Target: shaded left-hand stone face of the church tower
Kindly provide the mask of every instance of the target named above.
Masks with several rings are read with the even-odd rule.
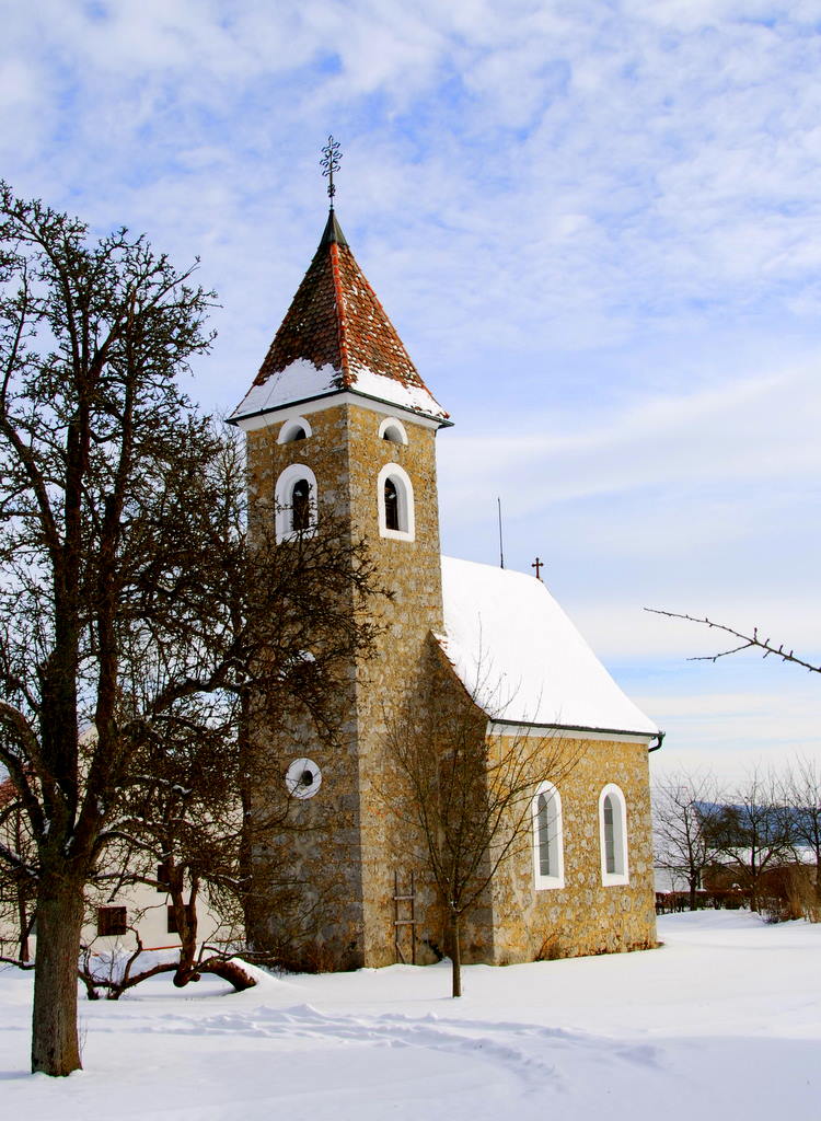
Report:
[[[317,479],[319,518],[350,524],[347,417],[343,409],[312,415],[308,439],[278,444],[283,420],[247,434],[249,528],[270,532],[276,483],[295,463]],[[285,546],[287,547],[287,546]],[[353,610],[351,603],[350,610]],[[339,728],[323,741],[306,713],[284,713],[268,726],[252,719],[256,784],[253,912],[255,947],[305,969],[361,964],[362,888],[359,874],[359,787],[357,766],[356,670],[340,685]],[[307,757],[322,770],[320,794],[289,798],[285,773]],[[287,807],[287,827],[279,826]],[[270,827],[268,822],[270,821]]]

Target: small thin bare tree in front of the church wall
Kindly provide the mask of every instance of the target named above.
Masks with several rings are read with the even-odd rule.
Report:
[[[453,997],[462,994],[464,917],[501,865],[529,849],[539,782],[561,782],[580,754],[578,741],[523,731],[488,736],[488,726],[478,694],[458,685],[439,648],[424,694],[387,722],[384,800],[414,837],[446,916]]]

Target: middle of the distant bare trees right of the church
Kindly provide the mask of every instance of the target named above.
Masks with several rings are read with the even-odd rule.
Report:
[[[753,771],[703,825],[708,843],[732,869],[748,893],[750,910],[760,908],[762,877],[778,865],[792,847],[792,821],[772,773]]]

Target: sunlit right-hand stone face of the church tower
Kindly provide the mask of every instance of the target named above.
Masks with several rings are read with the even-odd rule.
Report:
[[[385,586],[382,631],[375,656],[358,667],[359,788],[361,799],[362,888],[365,898],[365,960],[369,965],[396,961],[394,928],[395,873],[400,892],[415,872],[418,957],[441,942],[441,919],[426,876],[424,856],[412,836],[390,813],[400,791],[386,759],[386,733],[408,698],[424,692],[430,673],[430,632],[442,630],[442,569],[439,538],[435,432],[405,420],[407,445],[376,438],[380,417],[368,409],[351,410],[351,494],[354,532],[370,544]],[[399,464],[414,490],[415,540],[379,536],[377,476],[386,463]],[[406,914],[405,910],[400,910]],[[408,930],[405,936],[407,949]]]

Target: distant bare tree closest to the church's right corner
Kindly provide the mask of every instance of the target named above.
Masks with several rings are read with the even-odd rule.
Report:
[[[704,871],[716,860],[709,827],[716,800],[716,779],[703,772],[672,775],[653,787],[656,864],[686,881],[691,910]]]

